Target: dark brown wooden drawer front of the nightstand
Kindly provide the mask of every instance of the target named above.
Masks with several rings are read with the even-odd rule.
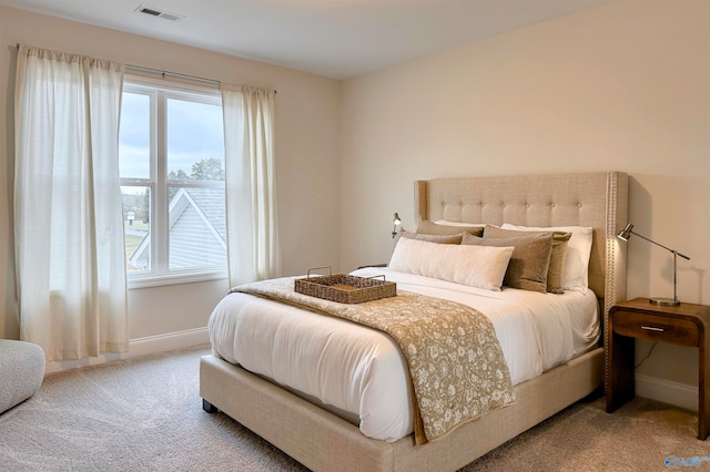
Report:
[[[680,318],[617,310],[613,314],[613,331],[621,336],[698,346],[700,335],[694,322]]]

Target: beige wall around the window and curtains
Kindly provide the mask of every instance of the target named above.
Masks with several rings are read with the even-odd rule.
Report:
[[[277,90],[276,153],[284,273],[339,260],[338,81],[0,7],[0,338],[19,335],[11,205],[16,43]],[[304,209],[307,208],[307,209]],[[204,328],[226,280],[129,291],[131,339]]]

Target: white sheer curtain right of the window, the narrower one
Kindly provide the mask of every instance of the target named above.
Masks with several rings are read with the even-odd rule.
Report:
[[[230,286],[281,276],[274,94],[222,84]]]

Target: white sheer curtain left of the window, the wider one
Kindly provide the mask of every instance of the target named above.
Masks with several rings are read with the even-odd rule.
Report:
[[[119,183],[123,65],[21,45],[14,235],[20,337],[48,360],[128,350]]]

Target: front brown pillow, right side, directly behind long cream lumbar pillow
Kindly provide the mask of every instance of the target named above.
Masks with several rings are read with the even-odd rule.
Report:
[[[476,237],[464,234],[463,245],[513,246],[508,270],[503,285],[530,291],[547,291],[547,269],[550,265],[552,252],[551,234],[535,234],[521,237]]]

